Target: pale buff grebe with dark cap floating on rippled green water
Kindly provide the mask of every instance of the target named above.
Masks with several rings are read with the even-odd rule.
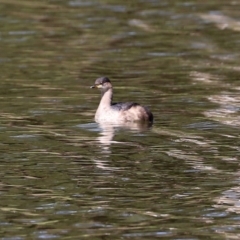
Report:
[[[91,88],[99,88],[102,98],[95,114],[96,122],[153,122],[153,114],[138,103],[112,103],[113,87],[107,77],[100,77]]]

